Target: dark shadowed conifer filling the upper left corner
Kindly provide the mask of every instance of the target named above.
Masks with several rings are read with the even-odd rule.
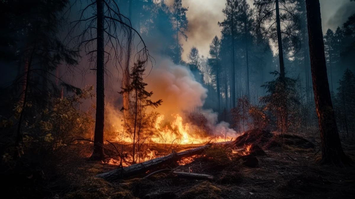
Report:
[[[17,103],[20,114],[16,146],[19,149],[22,134],[28,128],[24,121],[31,123],[33,120],[30,107],[50,109],[50,97],[59,96],[59,89],[54,84],[58,77],[54,71],[63,63],[68,66],[77,64],[78,53],[67,48],[59,37],[63,22],[60,13],[68,3],[67,0],[0,2],[1,14],[9,20],[4,22],[7,29],[1,33],[1,54],[4,50],[2,55],[7,56],[4,60],[17,61],[18,75],[12,85],[22,87]],[[6,39],[12,39],[12,42]]]

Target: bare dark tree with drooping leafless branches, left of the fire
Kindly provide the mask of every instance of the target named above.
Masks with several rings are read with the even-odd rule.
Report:
[[[128,54],[131,53],[135,35],[138,35],[140,39],[135,56],[140,57],[145,64],[150,61],[151,57],[140,34],[132,28],[130,19],[120,13],[114,0],[93,0],[87,5],[83,5],[79,0],[75,1],[75,4],[85,7],[79,12],[80,18],[70,23],[69,42],[75,42],[78,48],[84,48],[90,66],[96,65],[96,69],[92,69],[97,72],[97,99],[94,151],[91,159],[102,160],[105,156],[103,152],[104,76],[109,72],[105,69],[105,65],[112,60],[116,69],[124,71],[126,67],[122,69],[123,53],[125,50]],[[127,45],[123,45],[122,41],[127,41]],[[129,63],[129,60],[126,61]]]

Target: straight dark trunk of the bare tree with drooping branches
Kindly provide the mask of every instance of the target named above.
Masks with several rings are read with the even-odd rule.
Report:
[[[96,122],[94,134],[94,151],[91,160],[102,160],[105,157],[104,144],[104,114],[105,114],[105,87],[104,87],[104,2],[96,0],[97,6],[97,60],[96,60]]]

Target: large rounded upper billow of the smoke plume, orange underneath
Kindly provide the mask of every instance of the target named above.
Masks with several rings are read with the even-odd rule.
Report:
[[[163,99],[157,111],[166,115],[202,107],[207,98],[208,90],[195,80],[191,70],[169,59],[154,66],[144,81],[148,84],[146,90],[153,91],[154,101]]]

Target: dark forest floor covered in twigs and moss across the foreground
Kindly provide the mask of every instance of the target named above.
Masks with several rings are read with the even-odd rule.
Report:
[[[170,165],[174,171],[213,175],[212,181],[158,173],[148,179],[143,179],[147,175],[143,174],[107,182],[94,176],[113,170],[117,165],[89,161],[91,145],[83,142],[72,147],[68,156],[53,168],[57,180],[47,183],[42,191],[46,198],[65,199],[354,198],[355,166],[318,165],[320,140],[306,139],[315,147],[287,141],[281,146],[263,147],[266,155],[257,156],[257,167],[244,166],[242,160],[233,158],[226,161],[223,154],[231,155],[230,151],[221,147],[212,147],[185,164]],[[343,149],[355,160],[354,143],[344,142]]]

